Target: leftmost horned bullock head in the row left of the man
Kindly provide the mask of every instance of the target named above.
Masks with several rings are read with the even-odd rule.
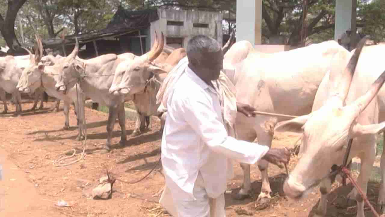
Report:
[[[25,49],[30,55],[29,65],[23,69],[22,75],[16,88],[25,93],[33,93],[42,83],[42,74],[44,73],[44,64],[39,63],[43,56],[43,44],[39,36],[35,35],[37,44],[35,45],[35,56],[31,51]]]

